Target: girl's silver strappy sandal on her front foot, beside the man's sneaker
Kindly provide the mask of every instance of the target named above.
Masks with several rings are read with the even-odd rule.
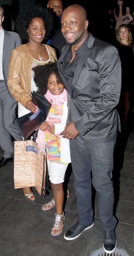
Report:
[[[54,221],[54,225],[51,229],[51,235],[53,235],[53,236],[57,236],[57,235],[60,235],[62,233],[62,229],[64,227],[64,221],[62,222],[60,219],[63,217],[63,220],[64,220],[64,212],[63,212],[62,215],[57,215],[55,213],[55,217],[56,218],[55,218],[55,221]],[[62,228],[60,228],[60,227],[62,227]],[[54,233],[52,233],[52,230],[54,230],[54,229],[59,230],[60,231],[59,234],[54,235]]]

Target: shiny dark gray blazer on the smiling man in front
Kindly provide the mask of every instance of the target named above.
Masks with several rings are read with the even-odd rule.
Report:
[[[68,119],[80,133],[80,143],[98,144],[112,141],[120,129],[116,105],[121,91],[121,62],[116,48],[90,34],[81,50],[70,91],[62,74],[62,61],[69,45],[65,45],[57,65],[67,89]]]

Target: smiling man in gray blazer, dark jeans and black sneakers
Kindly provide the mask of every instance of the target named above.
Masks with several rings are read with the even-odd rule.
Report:
[[[119,54],[112,45],[88,34],[86,12],[80,5],[67,7],[61,23],[68,44],[57,64],[68,95],[68,124],[61,135],[70,139],[78,211],[78,221],[64,238],[74,240],[93,226],[92,171],[92,183],[99,196],[103,247],[106,253],[112,253],[117,223],[111,179],[119,122],[115,107],[121,91]]]

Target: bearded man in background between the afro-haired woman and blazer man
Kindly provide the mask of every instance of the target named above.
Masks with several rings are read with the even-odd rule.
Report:
[[[57,28],[55,29],[55,34],[53,35],[52,39],[47,42],[47,44],[52,45],[57,53],[57,58],[62,53],[62,48],[65,45],[65,39],[61,32],[61,15],[63,11],[62,1],[61,0],[49,0],[49,2],[46,5],[47,8],[53,9],[54,14],[56,15],[57,24],[54,24],[54,26]]]

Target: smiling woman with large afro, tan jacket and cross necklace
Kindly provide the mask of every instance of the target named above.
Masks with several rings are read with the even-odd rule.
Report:
[[[31,91],[36,91],[32,68],[57,61],[56,53],[49,45],[42,44],[53,27],[53,17],[48,9],[28,5],[22,8],[16,19],[16,31],[28,43],[15,48],[10,56],[8,88],[18,101],[18,117],[36,113],[31,101]],[[34,201],[30,187],[23,188],[27,200]]]

